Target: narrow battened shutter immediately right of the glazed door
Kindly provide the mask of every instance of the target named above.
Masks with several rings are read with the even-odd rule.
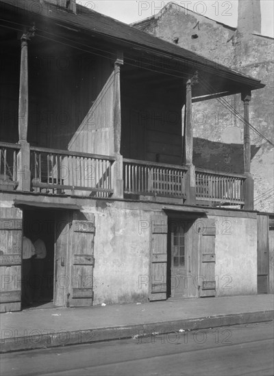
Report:
[[[201,226],[199,226],[199,224]],[[198,249],[200,256],[199,288],[200,297],[216,296],[215,279],[215,238],[216,227],[213,219],[203,218],[197,221],[199,232]]]

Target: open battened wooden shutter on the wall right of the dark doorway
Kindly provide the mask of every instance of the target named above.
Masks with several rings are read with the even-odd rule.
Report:
[[[92,306],[95,221],[74,220],[71,230],[69,306]]]

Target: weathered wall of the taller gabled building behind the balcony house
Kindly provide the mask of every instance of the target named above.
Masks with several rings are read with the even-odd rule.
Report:
[[[178,46],[203,55],[216,64],[223,64],[260,79],[266,87],[252,93],[249,105],[250,122],[264,136],[273,140],[273,38],[253,33],[253,30],[258,29],[256,18],[260,17],[259,12],[253,14],[254,19],[251,19],[252,14],[249,12],[249,29],[247,30],[246,8],[252,4],[250,0],[242,1],[242,3],[244,6],[239,8],[242,12],[239,16],[239,25],[245,27],[240,27],[238,30],[175,3],[169,3],[158,14],[135,23],[134,27],[152,33],[158,38],[177,43]],[[259,1],[256,3],[260,8]],[[250,25],[251,21],[254,25]],[[199,72],[199,75],[202,75],[202,72]],[[239,94],[225,97],[225,99],[243,115],[243,105]],[[242,144],[243,142],[242,122],[216,99],[195,103],[193,123],[195,137],[227,144]],[[273,194],[270,194],[270,189],[274,182],[273,148],[253,131],[251,131],[251,144],[254,147],[260,147],[251,161],[251,173],[255,185],[255,209],[272,212],[274,198]],[[219,164],[227,163],[220,161]]]

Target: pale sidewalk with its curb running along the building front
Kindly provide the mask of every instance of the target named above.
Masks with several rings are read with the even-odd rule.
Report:
[[[271,321],[273,297],[249,295],[1,313],[1,352]]]

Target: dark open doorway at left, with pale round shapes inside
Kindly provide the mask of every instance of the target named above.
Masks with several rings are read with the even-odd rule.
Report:
[[[23,308],[51,307],[54,291],[55,212],[40,208],[24,210],[23,235],[36,245],[36,249],[38,239],[46,248],[46,254],[31,259],[28,281],[22,280],[23,296],[27,282],[28,294],[31,297],[31,301],[22,301]]]

